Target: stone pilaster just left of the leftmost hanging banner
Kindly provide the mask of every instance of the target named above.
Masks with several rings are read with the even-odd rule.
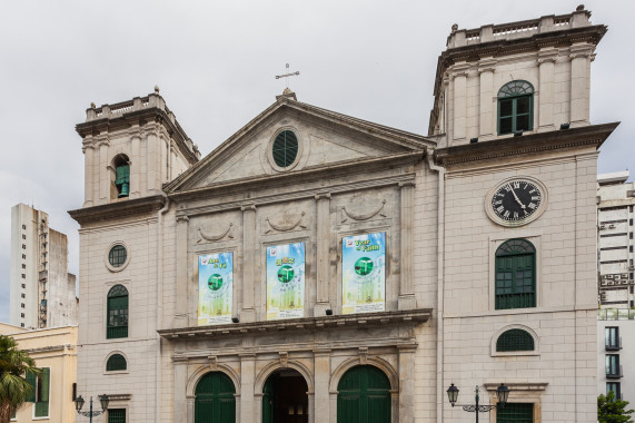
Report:
[[[188,326],[188,298],[198,297],[196,293],[189,292],[190,284],[188,284],[188,222],[187,216],[177,216],[177,306],[172,322],[173,327]]]

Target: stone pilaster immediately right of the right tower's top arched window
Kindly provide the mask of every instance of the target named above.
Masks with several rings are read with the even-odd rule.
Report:
[[[546,47],[538,52],[539,88],[538,105],[538,131],[556,129],[554,125],[554,79],[555,62],[558,58],[558,49]],[[535,98],[534,97],[534,98]],[[536,108],[534,108],[536,110]]]

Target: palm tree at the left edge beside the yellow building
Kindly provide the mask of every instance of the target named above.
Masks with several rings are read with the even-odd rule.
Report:
[[[24,378],[27,371],[40,373],[12,337],[0,335],[0,423],[9,423],[13,411],[32,393],[33,386]]]

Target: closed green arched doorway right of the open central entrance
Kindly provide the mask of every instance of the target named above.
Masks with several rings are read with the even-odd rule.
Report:
[[[337,423],[390,423],[390,381],[379,368],[350,368],[337,391]]]

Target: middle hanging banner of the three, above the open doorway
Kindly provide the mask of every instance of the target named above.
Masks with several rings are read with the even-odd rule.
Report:
[[[305,243],[267,247],[267,319],[305,315]]]

